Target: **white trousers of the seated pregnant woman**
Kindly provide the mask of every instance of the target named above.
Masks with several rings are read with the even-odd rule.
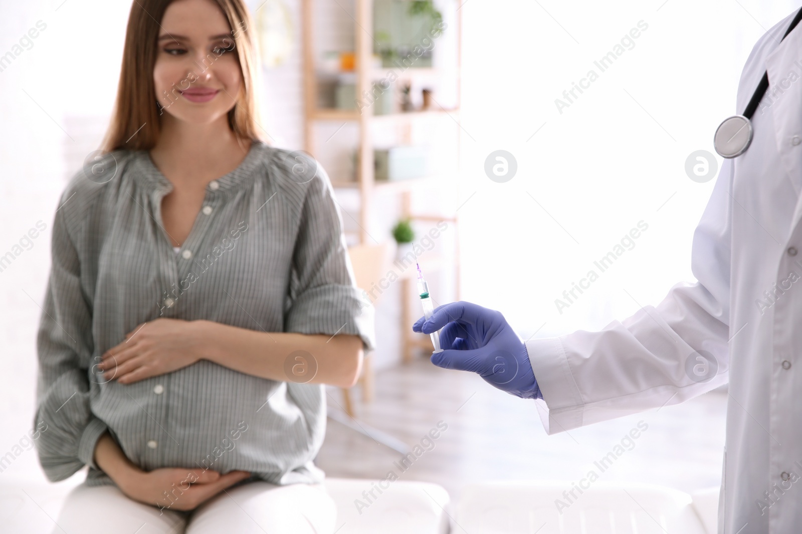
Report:
[[[142,504],[116,486],[73,489],[53,534],[332,534],[334,500],[322,484],[257,481],[220,492],[192,512]]]

